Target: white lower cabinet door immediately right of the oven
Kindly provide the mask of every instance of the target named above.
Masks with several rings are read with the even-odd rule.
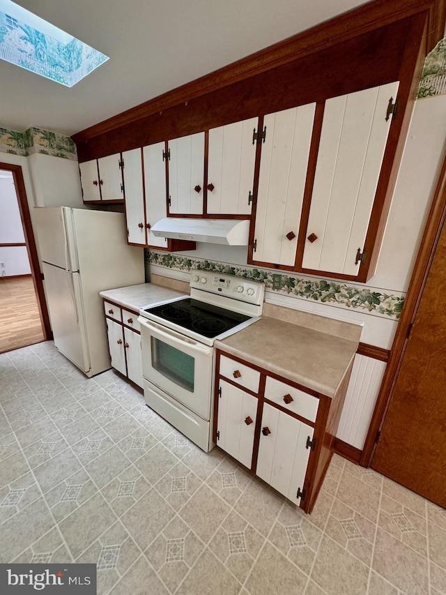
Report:
[[[224,380],[220,380],[220,389],[217,421],[220,437],[217,444],[251,469],[257,399]]]

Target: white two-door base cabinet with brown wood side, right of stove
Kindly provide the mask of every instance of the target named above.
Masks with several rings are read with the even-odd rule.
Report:
[[[350,370],[334,397],[217,349],[214,442],[310,513],[332,456]]]

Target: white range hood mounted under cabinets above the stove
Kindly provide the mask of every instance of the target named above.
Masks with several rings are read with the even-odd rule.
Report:
[[[151,232],[161,238],[247,246],[249,220],[167,217],[157,221]]]

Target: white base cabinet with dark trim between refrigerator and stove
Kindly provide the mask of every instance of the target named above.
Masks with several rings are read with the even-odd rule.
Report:
[[[138,312],[104,301],[104,313],[112,367],[142,388],[141,333],[137,320]]]

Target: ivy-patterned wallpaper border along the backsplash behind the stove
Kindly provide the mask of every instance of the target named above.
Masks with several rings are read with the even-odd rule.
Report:
[[[298,299],[312,300],[330,306],[359,310],[367,314],[398,320],[403,309],[404,296],[380,293],[369,287],[354,287],[332,280],[293,277],[283,271],[250,269],[249,267],[213,262],[206,259],[190,258],[166,252],[146,250],[146,263],[189,273],[191,269],[216,271],[247,279],[263,281],[266,289],[277,294]],[[280,275],[280,289],[273,287],[273,278]]]

